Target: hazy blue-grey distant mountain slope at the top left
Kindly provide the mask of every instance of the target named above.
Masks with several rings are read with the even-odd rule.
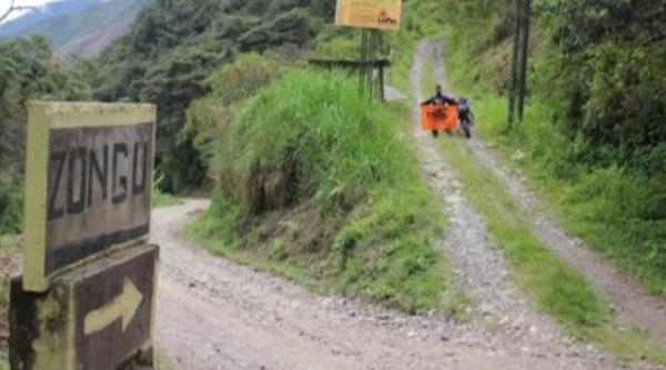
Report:
[[[0,27],[0,34],[42,34],[63,57],[98,56],[124,34],[152,0],[75,0],[48,4]]]

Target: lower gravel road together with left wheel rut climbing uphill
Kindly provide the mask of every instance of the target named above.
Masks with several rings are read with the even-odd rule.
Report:
[[[412,89],[436,43],[415,54]],[[437,74],[442,74],[440,71]],[[416,110],[418,107],[414,104]],[[211,256],[183,237],[186,219],[208,207],[188,200],[153,214],[162,247],[157,346],[183,369],[649,369],[620,364],[564,336],[506,279],[483,222],[466,204],[433,140],[414,131],[424,176],[454,220],[438,248],[456,262],[455,286],[473,300],[472,320],[455,323],[313,294],[282,278]],[[457,218],[462,220],[455,221]],[[461,231],[460,222],[465,224]],[[457,222],[457,223],[456,223]]]

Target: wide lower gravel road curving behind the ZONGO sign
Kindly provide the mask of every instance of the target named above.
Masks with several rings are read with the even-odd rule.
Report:
[[[183,369],[608,368],[581,353],[471,340],[466,326],[437,314],[319,297],[215,258],[182,238],[188,214],[206,204],[190,200],[153,216],[152,238],[162,247],[158,350]]]

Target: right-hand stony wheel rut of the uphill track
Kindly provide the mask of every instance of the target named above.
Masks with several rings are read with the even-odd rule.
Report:
[[[435,47],[435,60],[438,80],[444,81],[442,42]],[[517,200],[519,212],[525,220],[529,220],[534,234],[589,279],[596,291],[612,306],[618,322],[627,328],[646,330],[662,344],[666,344],[666,302],[646,294],[637,281],[592,251],[582,240],[571,236],[555,221],[534,192],[517,176],[500,164],[482,141],[475,138],[470,141],[470,147],[476,159],[501,179],[511,196]]]

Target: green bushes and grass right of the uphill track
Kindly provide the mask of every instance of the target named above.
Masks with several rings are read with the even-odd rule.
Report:
[[[569,230],[666,297],[666,9],[649,1],[537,2],[527,118],[506,133],[500,94],[511,7],[450,8],[450,71],[477,98],[482,133],[533,174]],[[480,23],[488,27],[468,27]]]

